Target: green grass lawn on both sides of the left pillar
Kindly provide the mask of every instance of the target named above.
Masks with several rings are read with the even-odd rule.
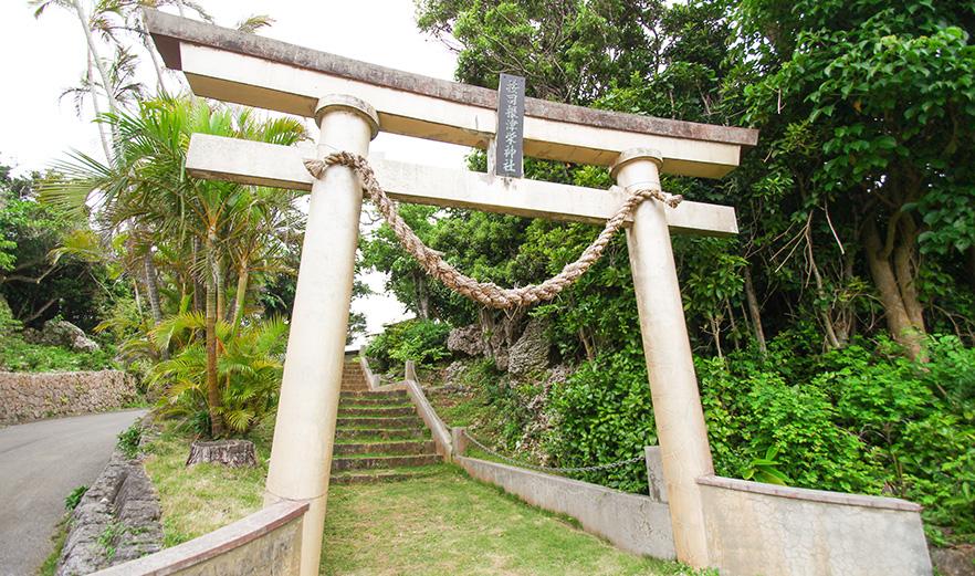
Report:
[[[188,452],[188,438],[167,432],[146,461],[162,503],[166,546],[240,520],[262,503],[266,443],[258,442],[256,469],[187,469]],[[332,486],[322,574],[693,573],[620,552],[570,520],[439,465],[417,480]]]

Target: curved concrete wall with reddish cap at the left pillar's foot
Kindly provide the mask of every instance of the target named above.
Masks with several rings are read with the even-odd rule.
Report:
[[[297,576],[305,503],[279,502],[151,556],[96,572],[98,576]]]

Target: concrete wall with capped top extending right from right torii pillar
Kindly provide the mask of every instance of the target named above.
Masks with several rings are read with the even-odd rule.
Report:
[[[921,506],[890,498],[698,480],[722,576],[927,576]]]

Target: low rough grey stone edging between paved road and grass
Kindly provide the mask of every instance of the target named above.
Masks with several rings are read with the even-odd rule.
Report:
[[[75,576],[162,548],[159,499],[141,463],[118,450],[71,516],[57,576]]]

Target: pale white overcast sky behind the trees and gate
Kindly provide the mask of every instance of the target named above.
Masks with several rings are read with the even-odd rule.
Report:
[[[457,59],[440,41],[417,30],[412,0],[201,0],[220,25],[233,27],[251,14],[275,22],[261,35],[365,62],[453,80]],[[170,10],[171,11],[171,10]],[[107,51],[105,52],[107,54]],[[59,96],[74,86],[85,70],[85,40],[73,12],[51,8],[34,19],[27,0],[4,0],[0,7],[0,54],[4,54],[0,88],[0,160],[17,172],[43,170],[74,148],[103,156],[93,112],[78,116],[72,98]],[[153,85],[148,56],[139,80]],[[177,73],[178,74],[178,73]],[[170,90],[176,80],[168,81]],[[306,125],[316,134],[314,123]],[[466,148],[380,134],[371,151],[417,164],[461,168]],[[378,294],[359,299],[353,310],[365,312],[367,331],[405,317],[402,304],[384,294],[382,273],[367,274]]]

